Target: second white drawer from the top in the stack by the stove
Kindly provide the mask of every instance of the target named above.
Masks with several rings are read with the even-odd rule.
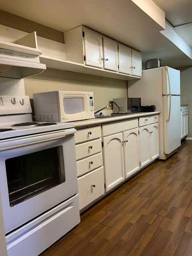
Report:
[[[84,142],[75,146],[76,159],[94,155],[102,151],[101,139]]]

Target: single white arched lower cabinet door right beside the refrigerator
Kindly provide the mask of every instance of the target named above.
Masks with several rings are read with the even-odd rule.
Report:
[[[151,124],[150,152],[152,161],[159,157],[159,123]]]

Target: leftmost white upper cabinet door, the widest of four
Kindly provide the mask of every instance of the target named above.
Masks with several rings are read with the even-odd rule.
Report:
[[[102,35],[88,28],[84,31],[84,64],[92,67],[103,68]]]

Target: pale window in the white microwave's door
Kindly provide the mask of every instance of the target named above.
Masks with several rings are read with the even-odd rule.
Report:
[[[66,114],[76,114],[84,111],[83,98],[63,98],[63,107]]]

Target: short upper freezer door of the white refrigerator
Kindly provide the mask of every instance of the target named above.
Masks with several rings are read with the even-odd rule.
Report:
[[[169,67],[163,68],[163,95],[180,95],[180,71]]]

